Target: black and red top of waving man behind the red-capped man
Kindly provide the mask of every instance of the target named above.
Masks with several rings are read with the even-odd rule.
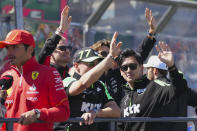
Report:
[[[51,38],[47,39],[44,47],[40,51],[38,55],[38,63],[39,64],[44,64],[45,60],[47,59],[48,56],[51,56],[55,48],[57,47],[57,44],[61,40],[61,36],[54,34]],[[66,65],[65,67],[52,64],[50,63],[51,67],[56,68],[56,70],[60,73],[62,79],[69,77],[70,75],[68,74],[69,67]]]

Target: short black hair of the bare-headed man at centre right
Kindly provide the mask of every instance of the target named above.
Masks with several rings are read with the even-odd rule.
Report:
[[[117,59],[118,65],[121,66],[122,63],[123,63],[123,61],[124,61],[124,59],[125,59],[125,58],[128,58],[128,57],[130,57],[130,56],[134,57],[134,58],[136,59],[136,61],[137,61],[140,65],[143,64],[142,58],[140,57],[140,55],[139,55],[137,52],[135,52],[133,49],[126,48],[126,49],[124,49],[124,50],[120,53],[120,55],[119,55],[119,57],[118,57],[118,59]]]

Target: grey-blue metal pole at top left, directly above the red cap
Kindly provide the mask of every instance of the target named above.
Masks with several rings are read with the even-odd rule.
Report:
[[[15,9],[15,26],[16,29],[24,29],[23,27],[23,4],[22,0],[14,0]]]

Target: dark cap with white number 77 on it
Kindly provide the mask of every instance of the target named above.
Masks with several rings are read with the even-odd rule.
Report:
[[[90,63],[97,59],[103,59],[103,57],[99,56],[99,54],[92,48],[85,47],[76,51],[73,57],[73,62],[78,63],[83,61]]]

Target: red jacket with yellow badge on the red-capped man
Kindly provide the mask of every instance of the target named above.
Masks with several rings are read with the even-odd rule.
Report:
[[[2,76],[7,74],[14,78],[5,102],[7,118],[19,118],[24,112],[39,109],[40,120],[45,121],[25,126],[15,123],[14,130],[52,131],[53,122],[69,118],[68,97],[55,68],[40,65],[32,57],[22,66],[22,73],[11,66]]]

